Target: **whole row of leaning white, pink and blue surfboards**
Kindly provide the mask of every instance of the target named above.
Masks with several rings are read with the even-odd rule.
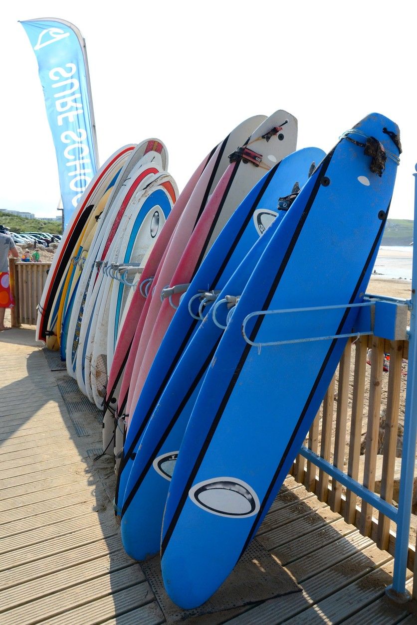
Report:
[[[103,408],[126,552],[161,551],[199,606],[268,512],[333,376],[378,252],[401,146],[370,114],[325,154],[254,116],[181,194],[158,139],[92,181],[58,247],[37,338]],[[175,469],[175,470],[174,470]]]

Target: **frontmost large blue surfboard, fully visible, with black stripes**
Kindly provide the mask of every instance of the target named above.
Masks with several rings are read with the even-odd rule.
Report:
[[[202,604],[232,571],[313,422],[378,252],[398,136],[376,113],[344,133],[301,189],[229,319],[164,511],[164,585],[181,607]]]

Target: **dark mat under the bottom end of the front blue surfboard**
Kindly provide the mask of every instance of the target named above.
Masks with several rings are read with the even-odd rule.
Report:
[[[301,586],[296,584],[293,577],[278,564],[256,538],[218,591],[202,606],[191,610],[176,606],[166,594],[159,556],[140,562],[140,566],[168,622],[189,622],[191,625],[196,616],[217,613],[218,621],[213,618],[209,620],[210,624],[214,625],[215,622],[223,622],[225,617],[219,612],[235,609],[236,614],[239,614],[241,609],[236,610],[236,608],[302,591]],[[181,575],[181,570],[178,574]],[[228,612],[226,616],[233,617],[234,614]]]

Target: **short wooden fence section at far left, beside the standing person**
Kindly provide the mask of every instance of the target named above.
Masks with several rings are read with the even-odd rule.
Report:
[[[10,284],[15,306],[11,309],[12,326],[36,324],[37,306],[41,301],[43,287],[50,262],[21,262],[9,259]]]

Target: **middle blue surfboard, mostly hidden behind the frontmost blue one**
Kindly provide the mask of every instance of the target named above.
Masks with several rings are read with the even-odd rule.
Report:
[[[243,291],[278,222],[276,219],[254,244],[220,297]],[[223,329],[214,324],[208,312],[169,378],[139,441],[121,511],[123,547],[136,560],[144,560],[159,551],[165,501],[178,449],[213,357],[213,344],[215,348],[221,334]]]

